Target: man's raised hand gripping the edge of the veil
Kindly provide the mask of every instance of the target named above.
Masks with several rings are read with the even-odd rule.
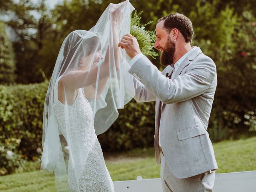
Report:
[[[137,39],[131,34],[124,35],[118,43],[118,47],[124,48],[130,59],[141,53]]]

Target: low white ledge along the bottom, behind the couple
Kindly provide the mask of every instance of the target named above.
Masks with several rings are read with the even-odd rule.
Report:
[[[162,192],[161,180],[114,182],[115,192]],[[214,192],[256,192],[256,171],[216,174]]]

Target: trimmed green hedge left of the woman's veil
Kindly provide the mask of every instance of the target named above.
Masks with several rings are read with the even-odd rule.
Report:
[[[24,160],[38,157],[47,87],[48,81],[0,85],[0,174],[12,173]]]

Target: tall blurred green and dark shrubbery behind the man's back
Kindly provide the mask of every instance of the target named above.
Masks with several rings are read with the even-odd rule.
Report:
[[[194,26],[193,44],[217,67],[218,85],[208,127],[210,138],[220,141],[235,132],[244,134],[253,125],[253,117],[248,121],[246,114],[256,108],[256,18],[248,11],[238,16],[229,6],[219,11],[216,3],[198,2],[188,17]]]

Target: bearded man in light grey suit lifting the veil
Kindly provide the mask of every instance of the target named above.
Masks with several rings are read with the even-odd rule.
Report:
[[[211,192],[218,168],[206,131],[217,85],[216,66],[191,47],[193,28],[183,14],[160,18],[154,47],[160,72],[126,34],[118,46],[132,59],[129,70],[138,102],[156,100],[155,152],[164,192]]]

